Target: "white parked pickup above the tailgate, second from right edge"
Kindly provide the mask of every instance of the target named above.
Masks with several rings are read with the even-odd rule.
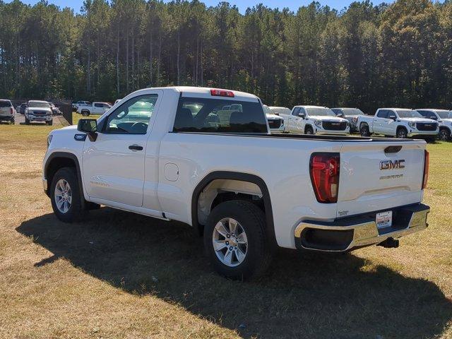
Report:
[[[397,138],[418,136],[436,138],[439,133],[438,123],[425,119],[413,109],[379,108],[374,117],[358,117],[359,133],[361,136],[383,134]]]

